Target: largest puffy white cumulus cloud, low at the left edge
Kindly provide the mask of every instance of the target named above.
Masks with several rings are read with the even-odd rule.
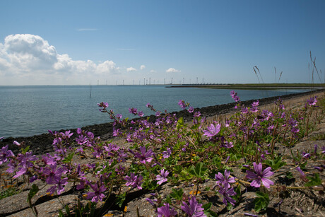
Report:
[[[0,74],[16,79],[23,76],[46,79],[46,75],[61,75],[71,81],[81,76],[119,74],[119,67],[109,60],[100,64],[91,60],[73,60],[68,54],[58,54],[55,47],[39,35],[18,34],[6,36],[4,44],[0,43]]]

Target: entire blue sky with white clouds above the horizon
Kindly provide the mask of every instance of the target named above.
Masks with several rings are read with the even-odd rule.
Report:
[[[324,82],[324,11],[323,0],[4,0],[0,86]]]

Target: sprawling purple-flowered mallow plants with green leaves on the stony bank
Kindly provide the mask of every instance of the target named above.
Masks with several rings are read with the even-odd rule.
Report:
[[[230,95],[237,102],[235,115],[209,124],[183,100],[178,104],[193,115],[191,124],[166,111],[157,111],[150,104],[147,107],[155,112],[154,122],[143,118],[143,112],[133,107],[129,112],[141,118],[124,119],[109,110],[107,102],[101,102],[98,104],[100,112],[107,113],[114,121],[113,134],[124,138],[125,144],[118,146],[112,141],[102,141],[92,132],[81,129],[77,130],[74,141],[70,131],[49,131],[54,136],[54,154],[35,156],[29,147],[22,146],[15,156],[5,146],[0,152],[0,164],[7,163],[6,172],[11,173],[13,179],[24,177],[25,182],[32,184],[28,201],[35,216],[37,209],[32,197],[39,191],[33,184],[35,180],[47,184],[47,193],[53,196],[65,192],[71,182],[80,198],[88,201],[88,205],[83,205],[79,199],[74,209],[65,206],[65,214],[59,211],[61,216],[99,216],[112,207],[123,209],[126,198],[135,191],[151,193],[146,200],[158,216],[217,216],[211,203],[201,201],[207,194],[218,195],[223,203],[218,206],[232,209],[242,203],[243,192],[255,189],[255,211],[261,212],[268,207],[274,191],[283,195],[289,189],[324,191],[320,176],[324,165],[315,167],[308,175],[303,170],[309,163],[325,159],[325,146],[291,153],[290,165],[278,151],[279,147],[290,150],[310,133],[317,124],[312,117],[324,116],[324,99],[318,107],[319,99],[310,98],[299,110],[286,109],[279,99],[272,110],[260,110],[259,101],[244,107],[235,91]],[[78,163],[81,158],[97,161],[81,164]],[[274,172],[280,170],[275,175]],[[276,182],[280,175],[292,179],[293,171],[299,174],[294,186]],[[203,187],[209,180],[213,180],[214,187]],[[182,188],[172,188],[171,194],[163,196],[160,190],[165,184],[193,188],[189,193]],[[95,209],[100,202],[102,209]]]

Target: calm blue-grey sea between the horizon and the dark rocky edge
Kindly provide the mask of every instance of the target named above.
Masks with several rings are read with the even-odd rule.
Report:
[[[91,90],[91,97],[90,97]],[[242,100],[266,98],[306,90],[237,90]],[[193,107],[233,102],[230,90],[200,88],[165,88],[165,86],[0,86],[0,137],[33,136],[48,129],[73,129],[110,122],[98,111],[98,102],[108,102],[110,109],[123,117],[129,107],[153,115],[157,110],[180,110],[177,102],[185,100]]]

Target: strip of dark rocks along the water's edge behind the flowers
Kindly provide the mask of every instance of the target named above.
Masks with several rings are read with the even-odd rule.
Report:
[[[313,91],[304,92],[304,93],[293,93],[293,94],[289,94],[289,95],[282,95],[282,96],[280,96],[280,98],[282,100],[288,100],[288,99],[292,99],[292,98],[298,98],[298,97],[301,97],[304,95],[309,95],[311,93],[315,93],[315,94],[321,93],[323,91],[324,90],[313,90]],[[273,103],[278,98],[279,97],[254,99],[254,100],[244,101],[243,103],[244,103],[244,105],[249,106],[252,104],[252,102],[259,100],[260,105],[267,105],[267,104]],[[223,104],[223,105],[214,105],[214,106],[209,106],[209,107],[195,108],[194,111],[200,111],[201,114],[203,115],[203,117],[213,117],[215,115],[226,114],[228,112],[231,112],[234,107],[235,107],[235,102]],[[191,113],[187,112],[186,110],[179,111],[179,112],[172,112],[172,113],[176,113],[177,117],[183,117],[185,122],[189,122],[192,119]],[[143,117],[143,118],[148,118],[148,117]],[[151,115],[149,117],[149,120],[155,121],[155,116]],[[112,132],[113,132],[112,122],[81,127],[81,129],[83,129],[85,131],[91,131],[91,132],[93,132],[93,134],[95,134],[96,137],[100,136],[100,138],[103,140],[110,140],[110,139],[114,138],[114,136],[112,135]],[[73,132],[72,139],[74,139],[76,136],[76,129],[62,129],[60,131],[67,131],[67,130],[70,130],[71,132]],[[49,133],[30,136],[30,137],[4,138],[4,139],[2,139],[2,141],[0,141],[0,148],[3,146],[6,146],[8,144],[9,149],[11,149],[14,153],[18,153],[19,148],[18,148],[18,146],[13,144],[13,141],[18,141],[19,143],[25,142],[25,144],[27,146],[30,146],[30,150],[32,150],[32,152],[37,155],[53,151],[53,149],[52,149],[53,137]]]

